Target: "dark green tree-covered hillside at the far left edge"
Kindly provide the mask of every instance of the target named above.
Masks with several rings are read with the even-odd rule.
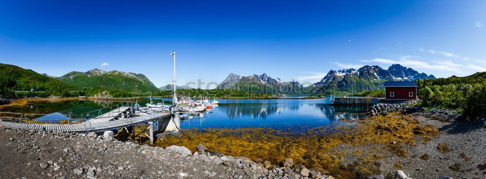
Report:
[[[0,64],[0,96],[14,96],[15,91],[45,91],[47,95],[66,96],[75,87],[59,80],[41,75],[30,69],[15,65]]]

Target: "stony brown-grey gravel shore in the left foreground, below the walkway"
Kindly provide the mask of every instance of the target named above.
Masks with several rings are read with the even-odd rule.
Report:
[[[1,179],[334,179],[292,160],[268,170],[246,157],[139,146],[94,133],[0,127],[0,148]]]

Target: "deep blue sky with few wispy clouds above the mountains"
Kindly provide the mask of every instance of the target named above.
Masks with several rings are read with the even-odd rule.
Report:
[[[94,68],[156,86],[229,73],[319,81],[391,64],[436,77],[486,71],[484,0],[17,0],[0,5],[0,63],[62,76]],[[103,65],[104,64],[104,65]],[[215,87],[215,85],[213,86]]]

